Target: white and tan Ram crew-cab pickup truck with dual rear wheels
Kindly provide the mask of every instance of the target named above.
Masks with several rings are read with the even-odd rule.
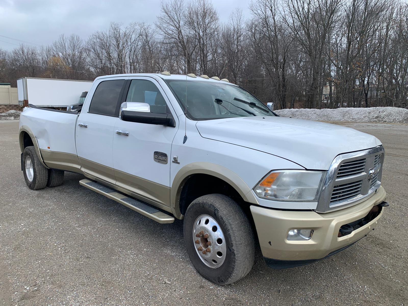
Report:
[[[258,243],[272,268],[333,255],[388,206],[376,137],[279,117],[206,75],[96,78],[80,113],[26,108],[20,148],[33,190],[71,171],[152,220],[183,219],[191,262],[216,284],[244,277]]]

